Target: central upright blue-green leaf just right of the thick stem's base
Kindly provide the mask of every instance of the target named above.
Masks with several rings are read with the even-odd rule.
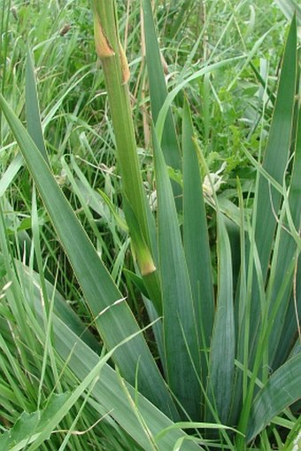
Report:
[[[166,162],[153,134],[158,194],[158,252],[167,380],[189,416],[200,416],[199,344],[189,273]]]

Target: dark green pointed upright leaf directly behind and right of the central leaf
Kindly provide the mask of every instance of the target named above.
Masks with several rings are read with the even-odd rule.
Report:
[[[189,105],[185,101],[182,119],[183,244],[193,295],[198,339],[205,357],[202,359],[202,381],[205,385],[207,374],[205,353],[209,350],[212,336],[214,295],[205,202],[193,138]]]

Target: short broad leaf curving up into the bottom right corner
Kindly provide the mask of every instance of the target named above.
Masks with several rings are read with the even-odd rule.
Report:
[[[256,396],[249,416],[247,440],[254,439],[266,424],[301,398],[301,354],[289,359],[269,377]]]

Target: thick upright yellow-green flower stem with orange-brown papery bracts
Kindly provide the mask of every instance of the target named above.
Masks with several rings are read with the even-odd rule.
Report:
[[[107,89],[112,124],[115,134],[117,157],[120,165],[122,193],[133,211],[135,222],[126,217],[130,235],[135,246],[138,265],[150,298],[161,315],[161,296],[158,272],[154,264],[156,245],[151,223],[150,206],[143,189],[143,179],[136,152],[135,128],[128,93],[129,70],[127,58],[122,49],[118,31],[118,20],[114,0],[93,0],[94,31],[96,52],[104,70],[104,82]],[[129,209],[127,209],[129,211]],[[142,239],[135,239],[137,233]],[[150,250],[145,253],[140,244]],[[155,298],[153,293],[156,293]]]

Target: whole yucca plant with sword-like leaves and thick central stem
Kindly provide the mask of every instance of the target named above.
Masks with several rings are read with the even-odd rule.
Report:
[[[128,277],[141,290],[157,354],[151,354],[127,299],[114,284],[51,172],[41,139],[30,58],[27,110],[35,114],[27,116],[29,133],[2,96],[0,106],[81,285],[107,354],[100,360],[94,339],[82,335],[84,327],[68,307],[63,307],[54,287],[43,278],[39,282],[20,262],[11,261],[3,213],[4,281],[13,282],[7,290],[23,287],[41,327],[46,315],[52,345],[81,381],[76,394],[66,401],[67,408],[93,383],[93,408],[109,412],[142,449],[252,447],[267,424],[291,422],[301,398],[297,265],[301,248],[301,116],[296,19],[283,52],[266,150],[258,160],[245,151],[257,170],[254,190],[243,198],[237,181],[238,206],[229,208],[215,192],[195,136],[188,100],[184,100],[179,134],[170,106],[189,82],[231,64],[233,59],[204,66],[186,78],[180,75],[167,95],[151,3],[143,0],[158,198],[152,211],[136,153],[129,71],[120,43],[116,5],[113,0],[92,4],[96,51],[104,71],[120,166],[122,207],[136,268]],[[171,173],[178,175],[177,182],[171,181]],[[209,183],[206,198],[202,174]],[[217,223],[216,284],[207,204]],[[239,265],[234,264],[237,260]],[[40,277],[41,273],[40,264]],[[53,311],[44,311],[34,288],[39,284],[43,297],[47,297],[47,290],[52,292]],[[289,406],[293,406],[291,411]],[[280,416],[283,413],[284,418]],[[58,408],[51,426],[65,414],[66,408]],[[219,432],[219,441],[212,430]],[[49,428],[31,439],[28,449],[38,447],[48,433]]]

